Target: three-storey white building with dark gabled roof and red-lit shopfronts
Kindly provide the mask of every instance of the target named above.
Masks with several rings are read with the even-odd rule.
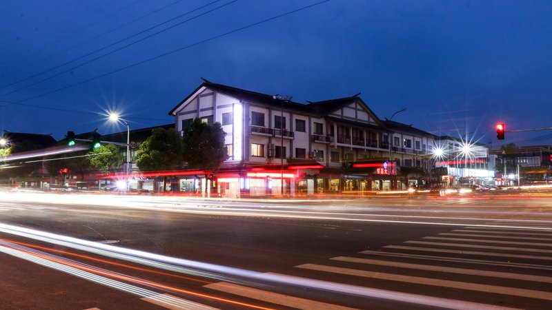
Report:
[[[221,123],[229,157],[213,183],[182,176],[183,191],[207,184],[222,196],[358,193],[406,188],[397,164],[427,167],[433,135],[381,121],[359,94],[303,104],[203,80],[169,115],[180,132],[194,118]]]

